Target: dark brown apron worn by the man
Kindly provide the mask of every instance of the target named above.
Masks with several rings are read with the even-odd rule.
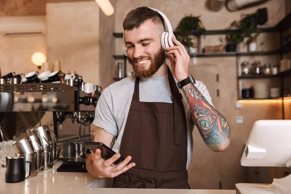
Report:
[[[139,78],[120,145],[136,166],[113,178],[114,188],[190,189],[187,125],[182,96],[168,68],[173,103],[140,102]]]

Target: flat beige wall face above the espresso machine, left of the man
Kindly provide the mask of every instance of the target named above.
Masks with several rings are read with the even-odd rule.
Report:
[[[94,1],[47,3],[48,62],[99,84],[99,8]]]

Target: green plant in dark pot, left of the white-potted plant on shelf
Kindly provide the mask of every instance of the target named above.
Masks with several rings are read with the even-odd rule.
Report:
[[[234,28],[235,31],[233,30]],[[226,33],[226,52],[235,52],[237,49],[237,45],[243,41],[242,31],[239,29],[239,22],[233,21],[228,28],[228,32]]]

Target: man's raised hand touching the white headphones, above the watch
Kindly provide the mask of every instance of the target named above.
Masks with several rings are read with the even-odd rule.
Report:
[[[176,46],[170,47],[166,49],[166,51],[171,62],[171,69],[174,77],[177,81],[182,81],[189,76],[190,56],[188,55],[184,45],[174,38],[174,36],[172,36],[172,41]],[[173,54],[175,54],[176,60]]]

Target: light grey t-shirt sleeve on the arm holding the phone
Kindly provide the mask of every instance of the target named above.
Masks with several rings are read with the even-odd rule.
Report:
[[[118,133],[117,124],[113,116],[112,95],[108,87],[103,90],[97,101],[93,124],[115,136]]]

